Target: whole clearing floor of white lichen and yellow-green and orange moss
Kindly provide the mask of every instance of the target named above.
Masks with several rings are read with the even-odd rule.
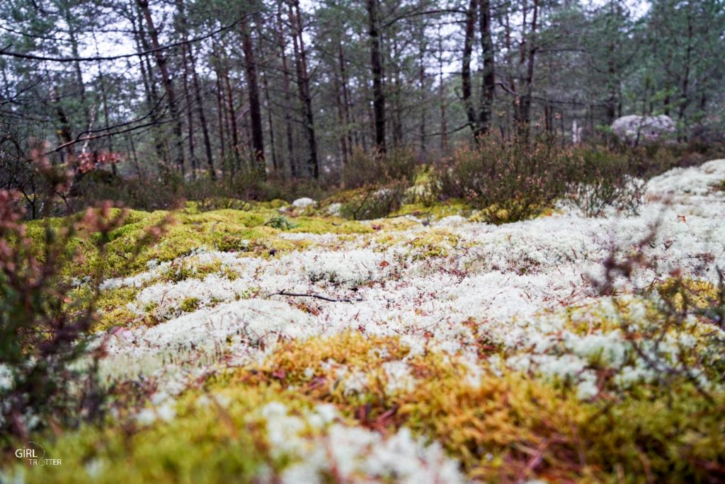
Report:
[[[115,277],[97,328],[101,376],[122,404],[101,427],[45,437],[62,466],[4,475],[721,480],[725,333],[691,316],[647,338],[674,274],[693,304],[716,293],[722,180],[725,160],[708,162],[650,180],[637,216],[562,203],[498,226],[455,204],[368,222],[326,204],[190,206],[113,274],[166,216],[132,212],[104,261]],[[650,263],[598,296],[614,249]],[[687,376],[659,360],[687,363]]]

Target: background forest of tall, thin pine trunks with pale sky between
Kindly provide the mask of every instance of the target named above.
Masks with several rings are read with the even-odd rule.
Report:
[[[593,143],[626,114],[712,144],[725,109],[720,0],[7,0],[0,18],[0,183],[33,216],[40,182],[17,160],[41,141],[80,175],[108,165],[86,193],[149,208],[182,176],[329,185],[355,164],[357,185],[373,149],[435,162],[487,133]],[[164,196],[120,193],[157,175]]]

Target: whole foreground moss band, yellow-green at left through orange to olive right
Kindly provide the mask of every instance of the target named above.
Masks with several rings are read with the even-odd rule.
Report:
[[[401,359],[415,385],[391,393],[382,368]],[[342,376],[352,372],[366,380],[349,392]],[[467,383],[468,373],[465,364],[435,351],[410,356],[397,338],[348,333],[286,343],[260,366],[221,373],[186,391],[168,422],[109,419],[43,436],[47,455],[62,459],[62,467],[16,470],[28,483],[254,482],[294,459],[270,453],[257,409],[271,401],[293,412],[334,404],[344,425],[382,433],[405,426],[442,443],[469,478],[485,482],[617,482],[623,476],[695,482],[713,477],[699,463],[724,464],[723,394],[708,402],[679,382],[676,398],[643,385],[626,396],[582,402],[518,372],[487,372],[475,385]]]

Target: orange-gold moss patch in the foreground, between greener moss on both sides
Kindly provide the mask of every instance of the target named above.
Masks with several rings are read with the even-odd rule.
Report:
[[[470,477],[497,480],[508,475],[515,480],[521,472],[523,477],[534,477],[534,472],[526,472],[529,450],[544,443],[548,443],[542,453],[544,467],[559,472],[560,478],[572,477],[563,461],[576,455],[576,431],[595,412],[593,408],[571,393],[515,373],[486,374],[471,384],[466,380],[468,367],[455,357],[435,352],[407,356],[407,352],[394,337],[348,333],[312,338],[287,343],[260,372],[252,377],[241,373],[236,381],[279,391],[297,388],[297,393],[334,403],[343,414],[370,425],[410,427],[443,443]],[[381,365],[404,358],[415,385],[389,394]],[[363,393],[346,391],[345,379],[355,372],[367,375]]]

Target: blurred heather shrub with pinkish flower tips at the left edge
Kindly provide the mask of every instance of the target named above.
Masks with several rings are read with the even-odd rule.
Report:
[[[37,171],[54,193],[65,172],[34,153]],[[49,196],[47,202],[56,201]],[[107,248],[128,212],[106,202],[65,219],[28,227],[22,196],[0,191],[0,446],[48,426],[99,417],[104,400],[96,378],[103,341],[91,334]],[[160,233],[149,230],[136,253]],[[69,277],[87,257],[83,280]],[[128,264],[133,262],[128,257]]]

